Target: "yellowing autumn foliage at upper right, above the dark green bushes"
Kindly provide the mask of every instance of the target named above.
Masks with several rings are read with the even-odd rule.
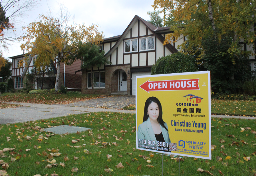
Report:
[[[239,42],[254,43],[255,33],[251,29],[256,22],[255,6],[253,0],[155,0],[153,5],[154,8],[163,8],[162,12],[173,17],[170,30],[174,32],[166,34],[165,44],[173,37],[176,42],[180,35],[185,35],[187,40],[181,48],[185,49],[189,41],[187,50],[192,51],[195,46],[197,49],[203,48],[202,41],[208,36],[214,35],[220,43],[223,37],[228,36],[232,41],[226,52],[231,57],[244,52]],[[201,57],[204,52],[203,49]],[[251,51],[248,52],[251,54]]]

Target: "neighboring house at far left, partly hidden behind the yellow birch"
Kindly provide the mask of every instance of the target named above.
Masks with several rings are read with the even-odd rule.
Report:
[[[33,62],[36,59],[35,57],[30,57],[28,61],[28,66],[23,63],[23,65],[20,65],[20,61],[24,58],[25,54],[9,57],[10,59],[13,59],[12,64],[12,78],[14,80],[14,89],[19,90],[22,89],[24,84],[23,80],[25,79],[26,73],[31,73],[31,70],[33,68]],[[56,64],[52,64],[52,68],[56,74],[57,68]],[[81,61],[77,60],[75,61],[71,66],[65,65],[64,63],[60,64],[60,86],[64,85],[68,88],[68,90],[72,91],[81,91],[81,80],[82,80],[82,74],[75,73],[76,70],[81,69]],[[40,89],[41,86],[38,85],[39,83],[35,83],[35,89]],[[44,84],[44,89],[49,89],[50,86],[47,84]]]

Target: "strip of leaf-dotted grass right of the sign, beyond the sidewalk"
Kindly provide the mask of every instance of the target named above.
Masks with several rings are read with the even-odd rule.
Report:
[[[256,101],[211,100],[211,113],[217,115],[256,116]]]

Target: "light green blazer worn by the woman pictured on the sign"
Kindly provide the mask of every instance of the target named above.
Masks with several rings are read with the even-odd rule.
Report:
[[[166,123],[164,123],[164,126],[168,129],[168,126]],[[164,141],[168,143],[171,142],[168,131],[165,128],[163,128],[161,125],[160,125],[160,128],[164,137]],[[147,121],[144,121],[142,124],[139,125],[137,134],[138,134],[138,140],[146,139],[146,143],[148,140],[156,141],[156,137],[155,137],[153,128],[151,126],[150,118],[148,118]],[[157,144],[157,141],[155,144]],[[148,145],[148,146],[154,146],[154,145]]]

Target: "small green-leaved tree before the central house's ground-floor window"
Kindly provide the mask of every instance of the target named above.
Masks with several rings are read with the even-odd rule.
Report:
[[[101,65],[104,65],[106,63],[110,64],[110,62],[104,57],[105,51],[101,50],[98,46],[91,44],[91,43],[82,43],[79,44],[79,50],[76,54],[76,56],[69,55],[68,59],[70,59],[69,64],[72,64],[73,61],[76,59],[82,60],[82,69],[89,69],[91,68],[91,76],[90,76],[90,82],[92,85],[93,93],[94,91],[94,84],[96,82],[93,80],[92,76],[92,67],[97,66],[100,67]]]

